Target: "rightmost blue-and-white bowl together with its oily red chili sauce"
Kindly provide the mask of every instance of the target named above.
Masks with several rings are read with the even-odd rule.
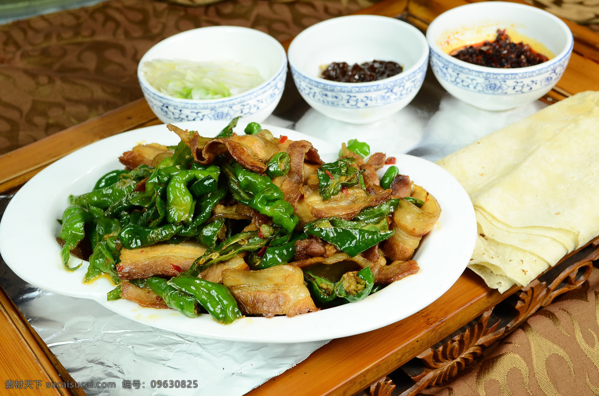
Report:
[[[558,17],[499,1],[446,11],[429,25],[426,39],[441,86],[492,111],[525,105],[549,92],[564,74],[574,42]]]

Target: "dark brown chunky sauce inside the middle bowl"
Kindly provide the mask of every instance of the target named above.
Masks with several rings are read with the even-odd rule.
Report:
[[[368,81],[383,80],[403,72],[399,63],[387,60],[373,60],[353,66],[346,62],[331,63],[320,75],[325,80],[340,83],[367,83]]]

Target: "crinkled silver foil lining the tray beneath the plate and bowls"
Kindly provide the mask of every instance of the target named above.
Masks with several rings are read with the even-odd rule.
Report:
[[[282,102],[264,124],[295,129],[337,145],[356,138],[367,141],[371,152],[408,153],[432,161],[545,106],[535,102],[510,111],[483,111],[452,98],[429,73],[409,106],[385,120],[356,126],[310,109],[293,91],[291,75],[288,80],[285,98],[291,99]],[[1,213],[10,198],[0,197]],[[35,241],[31,243],[34,248]],[[84,389],[88,395],[243,395],[327,342],[240,343],[159,330],[123,318],[95,301],[32,287],[2,260],[0,285],[75,381],[114,383],[110,389]],[[158,388],[156,381],[163,380],[173,380],[173,384]],[[176,380],[179,387],[175,387]],[[182,388],[183,380],[192,388]]]

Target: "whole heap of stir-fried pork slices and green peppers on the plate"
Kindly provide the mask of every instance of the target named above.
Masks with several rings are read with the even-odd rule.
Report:
[[[65,268],[89,260],[84,281],[107,274],[108,300],[222,323],[352,303],[418,272],[441,208],[395,166],[379,179],[392,157],[352,139],[323,163],[308,141],[236,124],[215,138],[169,124],[176,147],[137,145],[69,197]]]

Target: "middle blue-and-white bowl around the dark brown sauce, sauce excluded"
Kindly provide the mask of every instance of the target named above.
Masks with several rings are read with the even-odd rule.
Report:
[[[322,114],[353,124],[367,124],[404,108],[420,90],[428,66],[422,33],[398,19],[356,15],[319,22],[291,42],[289,66],[302,98]],[[338,83],[320,78],[332,62],[385,60],[403,72],[368,83]]]

